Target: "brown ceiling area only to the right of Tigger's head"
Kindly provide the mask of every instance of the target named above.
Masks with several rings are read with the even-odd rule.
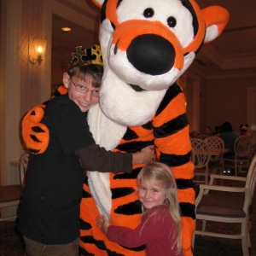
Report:
[[[220,5],[230,13],[224,32],[203,45],[189,69],[211,79],[256,74],[256,1],[197,0],[206,8]]]

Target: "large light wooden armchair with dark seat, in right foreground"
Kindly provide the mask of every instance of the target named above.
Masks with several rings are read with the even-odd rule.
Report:
[[[212,185],[214,179],[224,179],[245,182],[241,187]],[[200,192],[195,201],[195,221],[202,220],[202,230],[195,230],[195,235],[215,236],[229,239],[241,239],[243,256],[249,256],[248,247],[250,241],[249,215],[252,212],[253,193],[256,183],[256,156],[253,157],[247,177],[235,177],[226,175],[211,175],[210,184],[200,184]],[[209,191],[211,191],[209,193]],[[220,193],[222,191],[223,193]],[[222,233],[225,229],[220,229],[219,233],[206,230],[207,221],[219,223],[239,223],[241,224],[240,234]],[[195,244],[195,235],[193,246]]]

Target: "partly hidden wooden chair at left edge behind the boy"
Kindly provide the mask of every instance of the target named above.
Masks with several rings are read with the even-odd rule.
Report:
[[[13,207],[20,205],[28,159],[29,154],[23,154],[20,157],[20,184],[0,186],[0,209],[3,207]],[[0,221],[15,218],[17,218],[17,214],[9,217],[1,216]]]

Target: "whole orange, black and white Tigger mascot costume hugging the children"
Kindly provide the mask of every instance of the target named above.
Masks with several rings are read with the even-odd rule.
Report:
[[[195,230],[194,165],[185,98],[175,81],[203,43],[217,38],[229,13],[212,6],[200,9],[194,0],[92,0],[102,9],[100,44],[104,75],[100,104],[88,121],[96,143],[113,151],[135,153],[154,143],[157,160],[172,168],[182,212],[185,256],[191,256]],[[23,119],[27,148],[47,148],[47,127],[40,124],[44,107]],[[88,256],[143,256],[144,246],[121,247],[108,241],[96,225],[104,214],[110,224],[137,227],[141,205],[137,173],[88,172],[81,201],[80,253]]]

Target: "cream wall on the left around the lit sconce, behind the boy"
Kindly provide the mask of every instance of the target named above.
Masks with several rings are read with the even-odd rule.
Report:
[[[23,148],[20,140],[20,120],[33,106],[50,96],[51,25],[52,15],[60,15],[95,29],[94,17],[86,17],[70,9],[69,0],[0,0],[0,182],[19,183],[18,167]],[[87,8],[87,3],[81,5]],[[47,37],[41,66],[28,61],[29,42],[38,35]],[[1,212],[8,214],[6,211]]]

